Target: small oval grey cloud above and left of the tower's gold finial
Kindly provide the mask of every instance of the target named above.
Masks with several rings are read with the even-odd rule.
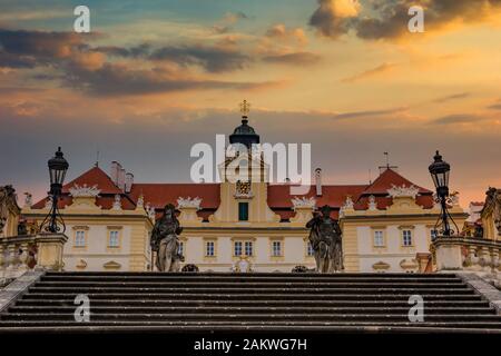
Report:
[[[166,46],[149,57],[153,60],[169,60],[181,66],[199,66],[209,72],[243,69],[250,58],[233,49],[205,46]]]

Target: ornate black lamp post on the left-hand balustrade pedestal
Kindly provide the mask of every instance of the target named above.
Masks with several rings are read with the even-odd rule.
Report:
[[[56,156],[49,159],[50,191],[49,197],[52,201],[51,208],[47,217],[43,219],[40,229],[45,228],[49,233],[59,233],[62,225],[62,233],[66,230],[65,221],[59,214],[58,200],[62,191],[62,182],[65,181],[66,171],[68,170],[68,161],[62,157],[61,148],[58,148]]]

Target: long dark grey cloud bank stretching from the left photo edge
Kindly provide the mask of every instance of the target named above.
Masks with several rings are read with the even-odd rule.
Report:
[[[0,68],[31,69],[50,65],[56,69],[53,72],[31,75],[30,79],[58,80],[66,87],[99,96],[208,89],[253,90],[277,85],[198,79],[183,69],[188,66],[198,66],[208,72],[242,69],[250,58],[236,50],[205,46],[153,49],[148,43],[130,48],[92,48],[84,38],[69,32],[0,29]],[[139,69],[134,62],[114,63],[108,60],[111,56],[144,58],[144,63],[149,65],[150,69]],[[180,68],[159,69],[156,61],[175,62]]]

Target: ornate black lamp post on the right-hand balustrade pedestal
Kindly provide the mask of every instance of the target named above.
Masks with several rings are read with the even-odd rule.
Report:
[[[441,235],[452,236],[454,234],[454,230],[451,229],[451,224],[449,220],[451,220],[454,226],[455,222],[448,209],[448,205],[451,204],[449,196],[449,174],[451,171],[451,165],[442,160],[442,156],[439,151],[436,151],[434,161],[430,165],[429,170],[432,176],[433,184],[435,185],[436,197],[441,207],[440,217],[435,225],[435,231],[436,228],[441,226],[442,229],[439,231]]]

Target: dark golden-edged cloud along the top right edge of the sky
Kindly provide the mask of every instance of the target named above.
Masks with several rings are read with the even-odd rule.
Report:
[[[356,16],[346,16],[350,0],[318,0],[318,8],[310,19],[310,24],[320,34],[333,39],[348,31],[357,37],[376,39],[395,39],[409,33],[409,9],[422,6],[425,9],[425,31],[431,32],[453,22],[464,23],[480,21],[501,10],[501,0],[373,0]],[[353,3],[357,3],[356,0]]]

